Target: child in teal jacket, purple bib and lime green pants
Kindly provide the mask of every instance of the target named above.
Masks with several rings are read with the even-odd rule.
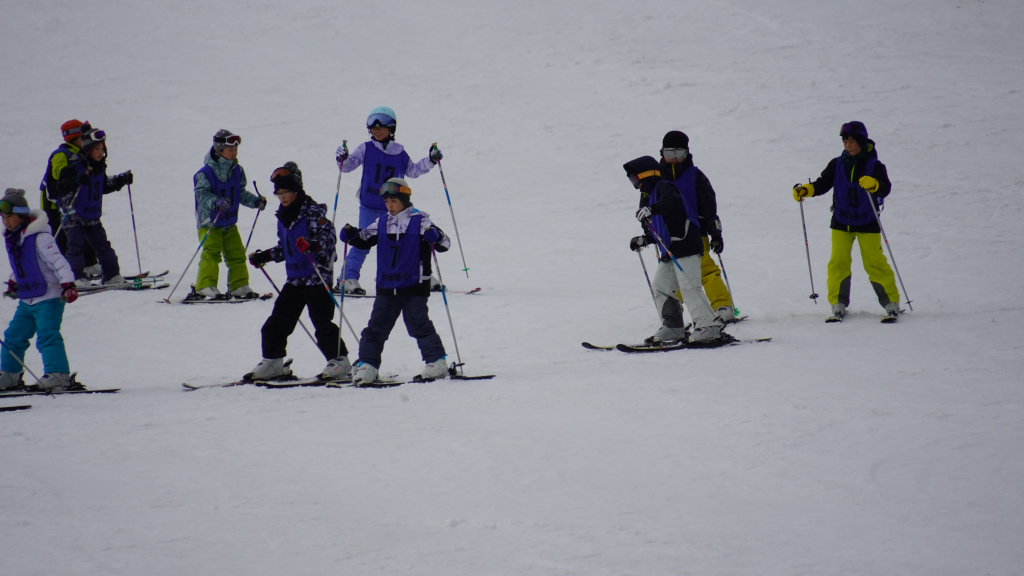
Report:
[[[242,136],[228,130],[217,130],[213,146],[206,154],[206,162],[193,176],[196,194],[196,228],[203,242],[203,255],[199,259],[196,286],[185,299],[225,297],[217,288],[220,276],[220,258],[227,266],[226,297],[256,298],[249,287],[249,269],[246,268],[246,249],[237,224],[239,206],[262,210],[266,198],[246,190],[246,171],[239,164],[239,145]]]

